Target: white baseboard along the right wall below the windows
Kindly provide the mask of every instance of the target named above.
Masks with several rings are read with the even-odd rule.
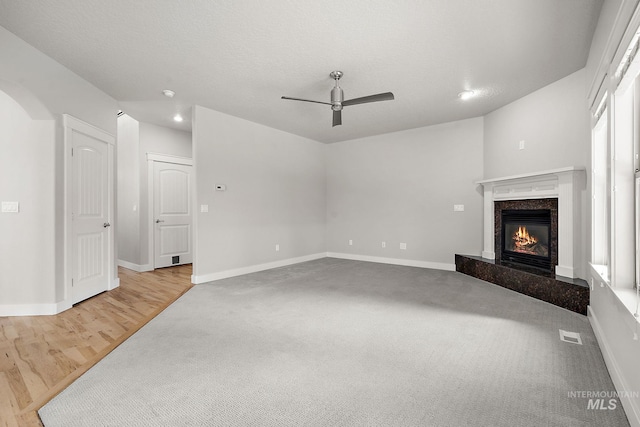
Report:
[[[638,407],[637,399],[633,399],[630,397],[634,396],[634,394],[637,394],[638,391],[629,389],[629,386],[624,379],[624,375],[622,375],[620,372],[620,367],[618,366],[618,362],[616,361],[616,358],[611,351],[611,347],[607,342],[607,337],[602,331],[600,322],[598,322],[598,318],[591,309],[591,306],[587,307],[587,316],[589,318],[589,322],[591,323],[591,327],[593,328],[593,332],[596,335],[596,339],[598,340],[598,344],[600,345],[602,357],[604,358],[604,362],[607,365],[607,369],[609,370],[609,375],[611,376],[613,385],[615,386],[616,391],[619,393],[618,397],[620,398],[620,402],[622,402],[622,408],[627,415],[629,424],[631,425],[631,427],[640,427],[640,408]]]

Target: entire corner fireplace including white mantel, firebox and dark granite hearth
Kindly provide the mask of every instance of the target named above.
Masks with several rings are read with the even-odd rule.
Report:
[[[576,253],[582,243],[579,209],[585,183],[580,167],[478,181],[484,188],[482,256],[456,254],[456,271],[586,315],[589,285],[578,278],[581,261]],[[524,216],[515,219],[520,225],[509,218],[512,211]],[[540,211],[545,217],[548,212],[550,221],[539,221]],[[514,235],[518,245],[511,242]],[[545,248],[534,248],[534,240],[547,246],[549,268],[547,260],[545,267],[509,261],[523,251],[546,258]]]

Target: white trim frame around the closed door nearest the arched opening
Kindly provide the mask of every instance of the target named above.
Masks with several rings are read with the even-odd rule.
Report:
[[[115,248],[115,228],[117,224],[114,224],[115,218],[115,172],[114,172],[114,158],[115,158],[115,146],[116,137],[112,134],[105,132],[104,130],[97,128],[89,123],[83,122],[68,114],[62,115],[63,135],[64,135],[64,300],[60,310],[66,310],[73,306],[73,158],[71,150],[73,148],[73,132],[83,133],[92,138],[99,139],[107,144],[107,182],[108,182],[108,200],[109,200],[109,219],[108,222],[112,224],[107,232],[107,241],[109,249],[107,251],[107,266],[108,266],[108,283],[107,290],[112,290],[120,286],[120,279],[118,278],[118,270],[116,265],[116,248]]]

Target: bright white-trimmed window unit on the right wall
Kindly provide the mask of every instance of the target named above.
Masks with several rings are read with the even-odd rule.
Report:
[[[640,55],[635,33],[596,109],[592,132],[592,265],[615,289],[640,271],[636,169],[640,144]]]

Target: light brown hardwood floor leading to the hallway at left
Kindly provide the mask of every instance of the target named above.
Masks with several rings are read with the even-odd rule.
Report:
[[[58,315],[0,317],[0,426],[41,426],[36,411],[188,291],[191,271],[119,268],[119,288]]]

